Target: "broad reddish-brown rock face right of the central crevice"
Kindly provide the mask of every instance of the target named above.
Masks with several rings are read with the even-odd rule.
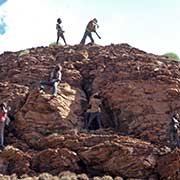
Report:
[[[179,64],[145,52],[139,52],[140,56],[130,49],[128,56],[122,56],[118,46],[106,48],[108,56],[100,53],[91,70],[95,74],[92,90],[102,92],[104,108],[109,112],[104,126],[168,144],[170,116],[179,107]],[[171,68],[167,69],[168,63]]]

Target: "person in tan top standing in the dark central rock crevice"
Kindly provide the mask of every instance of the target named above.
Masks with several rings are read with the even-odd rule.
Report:
[[[98,129],[100,129],[101,126],[101,109],[100,109],[100,105],[101,105],[101,99],[99,96],[99,93],[95,93],[94,95],[92,95],[92,97],[90,98],[90,102],[89,102],[89,109],[87,111],[87,115],[88,118],[86,118],[86,128],[89,129],[92,122],[94,120],[96,120],[97,125],[98,125]]]

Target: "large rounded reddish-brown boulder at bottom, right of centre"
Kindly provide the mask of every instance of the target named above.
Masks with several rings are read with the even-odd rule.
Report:
[[[98,173],[147,178],[156,166],[156,149],[150,144],[115,138],[78,152],[88,167]]]

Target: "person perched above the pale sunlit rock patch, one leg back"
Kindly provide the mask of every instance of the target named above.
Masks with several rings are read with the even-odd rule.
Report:
[[[40,92],[44,91],[44,86],[51,86],[53,87],[53,96],[57,96],[58,92],[58,84],[61,81],[62,78],[62,66],[56,65],[56,67],[53,69],[53,71],[50,74],[50,78],[48,81],[40,81]]]

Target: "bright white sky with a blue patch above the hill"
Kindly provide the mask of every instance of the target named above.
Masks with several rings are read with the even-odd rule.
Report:
[[[0,0],[0,54],[55,42],[59,17],[70,45],[97,18],[102,37],[93,34],[97,44],[128,43],[180,56],[180,0]]]

